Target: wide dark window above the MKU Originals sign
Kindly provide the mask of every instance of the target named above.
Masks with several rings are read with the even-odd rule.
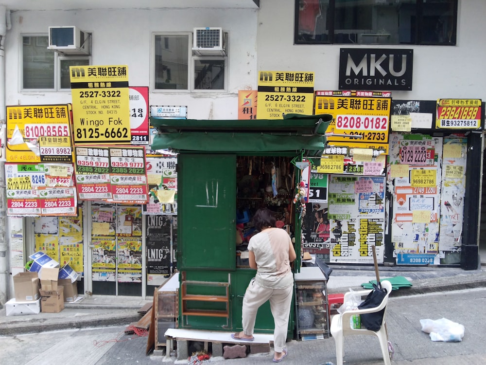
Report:
[[[455,45],[457,0],[295,0],[295,44]]]

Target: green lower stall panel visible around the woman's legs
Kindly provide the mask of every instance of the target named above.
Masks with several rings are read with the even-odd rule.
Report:
[[[242,315],[243,315],[243,296],[248,287],[250,280],[255,277],[256,271],[251,269],[237,270],[236,273],[231,275],[231,291],[232,291],[232,323],[233,331],[241,331],[242,328]],[[294,336],[294,300],[292,301],[292,307],[290,309],[289,327],[287,332],[287,338],[292,339]],[[273,333],[275,324],[270,310],[270,302],[263,304],[257,313],[257,319],[255,322],[255,332],[260,333]]]

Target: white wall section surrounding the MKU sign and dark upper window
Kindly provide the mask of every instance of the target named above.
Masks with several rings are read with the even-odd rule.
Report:
[[[395,99],[486,99],[486,1],[459,0],[456,46],[363,45],[362,48],[413,49],[412,91]],[[349,45],[294,45],[294,0],[260,1],[259,71],[313,71],[315,90],[338,90],[339,49]]]

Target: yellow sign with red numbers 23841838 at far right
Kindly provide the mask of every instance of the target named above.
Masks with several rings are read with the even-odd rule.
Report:
[[[438,99],[436,128],[481,128],[481,99]]]

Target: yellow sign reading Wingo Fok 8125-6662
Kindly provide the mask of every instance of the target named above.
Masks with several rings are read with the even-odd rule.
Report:
[[[127,66],[70,66],[74,143],[130,143]]]

